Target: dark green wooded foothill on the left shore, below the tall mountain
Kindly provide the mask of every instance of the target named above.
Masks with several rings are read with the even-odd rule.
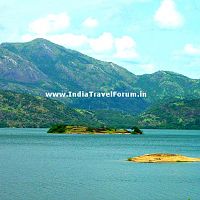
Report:
[[[0,127],[50,127],[52,124],[101,126],[93,113],[59,101],[0,90]]]

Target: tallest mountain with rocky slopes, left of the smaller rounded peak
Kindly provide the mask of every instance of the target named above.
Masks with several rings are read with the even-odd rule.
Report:
[[[7,53],[0,60],[2,63],[0,68],[7,72],[0,74],[0,86],[3,89],[35,95],[44,95],[47,91],[68,90],[130,91],[132,82],[136,78],[116,64],[96,60],[44,39],[35,39],[27,43],[3,43],[0,48]],[[16,67],[15,63],[18,63],[16,57],[27,60],[32,64],[33,69],[37,68],[41,78],[24,81],[27,77],[25,72],[27,66],[22,64],[21,68]],[[6,59],[13,62],[6,65]],[[12,78],[9,76],[10,69],[13,71]],[[29,71],[34,72],[34,70]],[[71,103],[73,107],[84,109],[111,108],[139,112],[147,106],[142,99],[73,99],[73,101],[66,99],[64,101]]]

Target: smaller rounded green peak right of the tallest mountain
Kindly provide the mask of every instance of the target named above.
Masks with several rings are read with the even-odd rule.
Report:
[[[163,102],[168,99],[200,98],[200,80],[190,79],[170,71],[158,71],[153,74],[139,76],[135,83],[149,95],[151,103]]]

